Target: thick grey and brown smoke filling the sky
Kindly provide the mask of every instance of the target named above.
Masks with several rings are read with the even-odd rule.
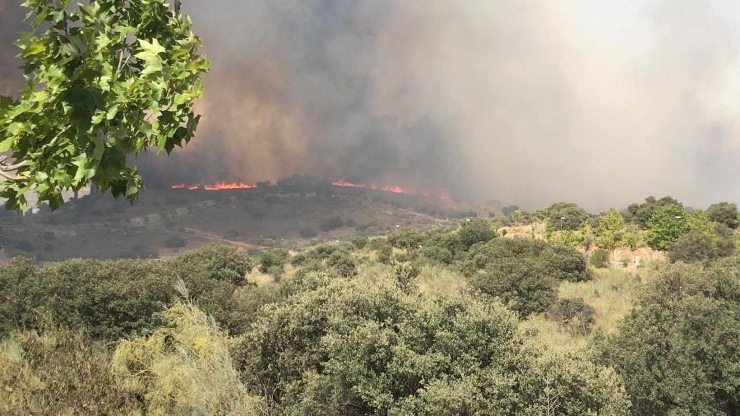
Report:
[[[309,174],[593,210],[739,200],[735,4],[184,1],[214,62],[203,120],[185,151],[144,157],[145,179]],[[0,89],[18,75],[3,62]]]

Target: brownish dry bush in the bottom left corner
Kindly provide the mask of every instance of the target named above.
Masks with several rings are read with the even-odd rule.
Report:
[[[64,413],[61,413],[61,410]],[[0,341],[0,410],[4,415],[138,413],[118,386],[104,343],[47,327]]]

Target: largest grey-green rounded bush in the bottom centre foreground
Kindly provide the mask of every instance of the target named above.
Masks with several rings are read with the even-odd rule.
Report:
[[[234,347],[252,394],[275,392],[266,414],[535,415],[548,394],[553,414],[627,413],[610,369],[523,346],[497,302],[325,273],[291,284]]]

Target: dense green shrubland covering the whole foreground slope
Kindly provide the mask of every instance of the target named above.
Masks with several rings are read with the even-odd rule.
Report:
[[[256,258],[13,259],[0,412],[737,414],[732,207],[646,204],[526,214],[549,239],[504,237],[494,217]],[[558,229],[563,212],[582,223]],[[630,233],[675,264],[610,263]]]

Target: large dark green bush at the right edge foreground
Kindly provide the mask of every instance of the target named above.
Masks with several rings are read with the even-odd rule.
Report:
[[[668,265],[636,292],[619,332],[596,338],[634,415],[733,415],[740,409],[740,262]]]

